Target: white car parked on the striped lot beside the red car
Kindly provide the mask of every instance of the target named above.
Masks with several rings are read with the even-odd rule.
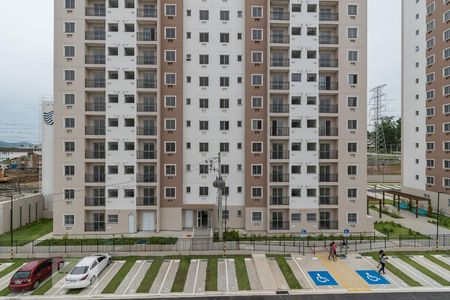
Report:
[[[67,289],[81,289],[94,283],[100,273],[111,263],[111,255],[100,253],[87,256],[66,276],[64,287]]]

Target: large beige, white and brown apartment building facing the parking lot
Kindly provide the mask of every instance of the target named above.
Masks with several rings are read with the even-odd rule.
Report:
[[[366,0],[55,1],[56,234],[372,231]]]

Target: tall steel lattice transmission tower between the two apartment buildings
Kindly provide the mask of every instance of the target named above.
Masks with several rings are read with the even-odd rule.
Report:
[[[384,129],[382,126],[383,113],[386,110],[386,94],[383,89],[386,84],[379,85],[370,90],[372,97],[370,98],[370,127],[373,130],[373,134],[370,138],[372,146],[375,150],[375,160],[377,170],[379,168],[379,162],[386,154],[386,139],[384,138]]]

